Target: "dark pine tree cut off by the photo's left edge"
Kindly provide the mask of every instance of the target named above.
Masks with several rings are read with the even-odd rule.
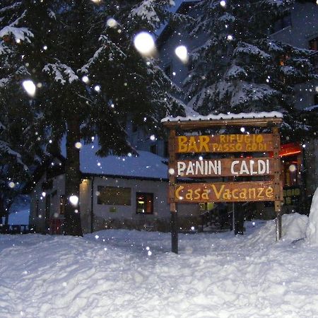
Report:
[[[42,157],[33,103],[19,81],[27,74],[15,47],[30,32],[16,28],[22,13],[4,1],[0,10],[0,216],[6,216],[30,177],[30,167]]]

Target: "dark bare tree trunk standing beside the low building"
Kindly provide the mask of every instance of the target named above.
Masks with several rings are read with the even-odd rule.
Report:
[[[79,206],[80,160],[79,149],[75,147],[78,141],[81,141],[80,123],[73,113],[67,121],[64,235],[83,236]],[[71,196],[78,198],[78,204],[71,203]]]

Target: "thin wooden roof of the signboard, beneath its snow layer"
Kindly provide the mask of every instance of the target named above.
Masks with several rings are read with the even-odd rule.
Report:
[[[211,119],[211,120],[189,120],[178,122],[163,122],[169,129],[208,129],[216,126],[259,126],[266,127],[281,124],[281,118],[246,118],[246,119]]]

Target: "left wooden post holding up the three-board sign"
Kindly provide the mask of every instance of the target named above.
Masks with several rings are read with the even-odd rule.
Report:
[[[170,129],[168,147],[170,166],[175,167],[175,129]],[[178,254],[178,219],[177,204],[175,203],[175,173],[176,172],[169,170],[169,203],[171,213],[171,251]]]

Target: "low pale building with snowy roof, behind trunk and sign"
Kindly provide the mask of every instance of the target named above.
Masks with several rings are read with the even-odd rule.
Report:
[[[170,230],[167,165],[152,153],[100,158],[89,145],[81,151],[79,206],[83,232],[107,228]],[[30,224],[37,232],[63,232],[65,203],[63,160],[51,163],[31,191]],[[199,206],[178,206],[180,229],[199,228]]]

